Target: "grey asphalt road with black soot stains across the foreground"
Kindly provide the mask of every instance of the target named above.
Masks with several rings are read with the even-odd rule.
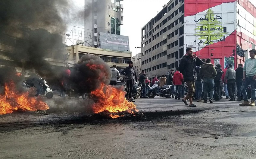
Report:
[[[0,158],[256,158],[256,107],[139,98],[137,117],[89,115],[90,100],[0,116]],[[143,113],[143,115],[142,115]]]

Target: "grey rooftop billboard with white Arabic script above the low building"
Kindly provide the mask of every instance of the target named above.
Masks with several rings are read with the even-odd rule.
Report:
[[[130,51],[128,36],[100,32],[100,43],[102,49]]]

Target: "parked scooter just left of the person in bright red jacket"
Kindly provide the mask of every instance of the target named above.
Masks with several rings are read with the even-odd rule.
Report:
[[[148,91],[148,98],[154,98],[156,95],[159,97],[170,98],[171,97],[171,86],[172,85],[164,85],[161,86],[159,89],[159,93],[157,93],[158,89],[158,81],[149,89]]]

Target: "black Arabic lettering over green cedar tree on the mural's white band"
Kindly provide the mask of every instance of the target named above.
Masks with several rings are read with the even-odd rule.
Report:
[[[199,36],[198,40],[200,40],[198,44],[210,45],[213,42],[225,41],[226,33],[223,32],[222,22],[218,20],[222,17],[215,15],[211,8],[206,13],[204,17],[194,20],[197,22],[195,35]]]

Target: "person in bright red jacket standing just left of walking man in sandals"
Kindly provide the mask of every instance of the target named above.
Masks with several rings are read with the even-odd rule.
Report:
[[[176,86],[175,99],[180,99],[181,95],[181,84],[183,81],[183,75],[179,71],[179,67],[176,68],[176,72],[173,75],[173,84]]]

